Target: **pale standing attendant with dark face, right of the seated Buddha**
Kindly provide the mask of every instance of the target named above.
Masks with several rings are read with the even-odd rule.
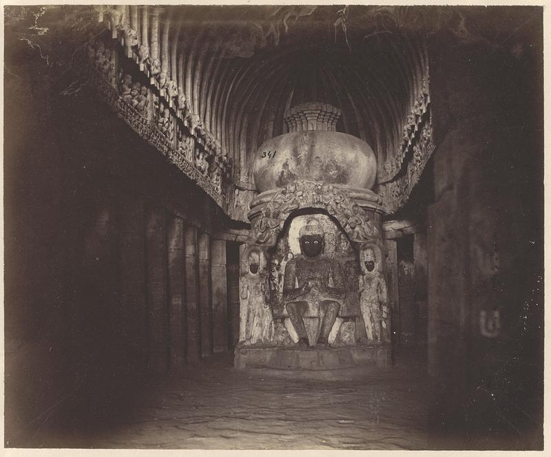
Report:
[[[388,343],[391,341],[391,320],[386,280],[373,248],[366,248],[360,253],[360,264],[362,275],[358,290],[367,338],[369,341]]]

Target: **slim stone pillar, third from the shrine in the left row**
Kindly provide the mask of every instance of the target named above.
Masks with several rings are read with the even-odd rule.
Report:
[[[200,330],[198,307],[198,257],[197,257],[197,229],[194,226],[186,226],[184,231],[185,241],[185,301],[187,314],[186,328],[186,359],[188,362],[196,362],[200,357]]]

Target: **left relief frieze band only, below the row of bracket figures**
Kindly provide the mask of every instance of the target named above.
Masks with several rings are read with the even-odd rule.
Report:
[[[206,132],[201,140],[201,130],[193,123],[186,125],[178,120],[170,107],[174,105],[160,98],[149,81],[136,81],[138,78],[132,77],[134,69],[123,65],[114,44],[109,49],[98,40],[88,46],[83,65],[92,87],[118,117],[196,182],[218,206],[233,217],[241,213],[240,220],[246,220],[243,211],[233,204],[239,192],[231,182],[231,162],[219,142]],[[242,198],[245,196],[252,198],[247,193]]]

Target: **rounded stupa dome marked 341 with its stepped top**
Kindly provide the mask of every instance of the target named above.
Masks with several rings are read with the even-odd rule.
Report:
[[[260,192],[295,180],[371,189],[377,160],[355,136],[336,131],[340,109],[327,103],[302,103],[284,114],[289,133],[264,142],[255,153],[253,177]]]

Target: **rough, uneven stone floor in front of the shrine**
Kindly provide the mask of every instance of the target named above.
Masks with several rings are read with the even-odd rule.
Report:
[[[427,449],[426,377],[415,361],[345,381],[240,371],[217,356],[167,379],[131,418],[48,447]]]

